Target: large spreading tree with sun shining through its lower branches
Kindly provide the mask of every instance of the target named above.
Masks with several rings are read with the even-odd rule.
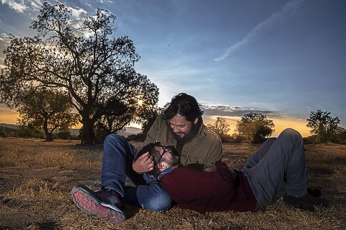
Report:
[[[130,121],[142,122],[141,116],[157,104],[159,91],[134,70],[140,57],[132,40],[114,36],[115,16],[98,8],[79,26],[70,19],[63,4],[44,2],[31,24],[37,35],[11,38],[4,51],[0,96],[13,106],[26,88],[66,91],[82,117],[82,143],[92,144],[98,142],[95,123],[114,131]]]

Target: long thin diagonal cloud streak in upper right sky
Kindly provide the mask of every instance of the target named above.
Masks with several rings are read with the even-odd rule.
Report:
[[[275,23],[279,21],[283,21],[289,13],[295,12],[299,7],[301,7],[304,0],[290,0],[288,1],[280,10],[274,12],[264,21],[259,23],[256,27],[254,27],[243,39],[237,41],[229,48],[225,49],[223,54],[219,57],[215,58],[214,61],[222,61],[229,54],[242,46],[247,45],[249,42],[258,38],[259,35],[262,35],[268,29],[270,29]]]

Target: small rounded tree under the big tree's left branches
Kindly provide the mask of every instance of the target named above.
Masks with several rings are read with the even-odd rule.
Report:
[[[46,141],[53,140],[54,130],[68,130],[78,124],[79,115],[71,113],[68,96],[58,91],[34,90],[21,97],[16,106],[20,116],[17,123],[23,127],[43,128]]]

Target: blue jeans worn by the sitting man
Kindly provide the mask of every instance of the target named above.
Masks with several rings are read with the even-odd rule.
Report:
[[[152,175],[138,174],[132,169],[136,149],[122,136],[110,134],[103,145],[102,187],[119,192],[124,202],[153,211],[171,208],[172,199]],[[125,187],[126,176],[136,187]]]

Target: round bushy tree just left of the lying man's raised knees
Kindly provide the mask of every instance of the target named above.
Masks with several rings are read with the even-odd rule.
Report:
[[[243,139],[248,143],[259,143],[271,136],[275,131],[274,127],[273,121],[267,119],[265,115],[249,113],[237,121],[236,136],[241,136],[237,139]]]

